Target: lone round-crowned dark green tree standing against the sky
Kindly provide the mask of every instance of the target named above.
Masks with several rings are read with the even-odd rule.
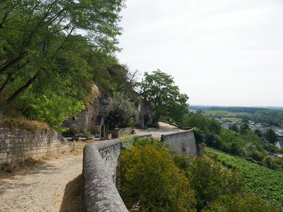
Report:
[[[188,112],[188,97],[180,93],[178,86],[174,85],[173,77],[160,71],[144,73],[139,83],[141,97],[151,102],[154,110],[154,122],[163,117],[173,117],[177,122]]]

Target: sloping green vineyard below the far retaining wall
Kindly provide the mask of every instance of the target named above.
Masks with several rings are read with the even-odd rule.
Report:
[[[270,170],[212,148],[205,148],[204,152],[206,155],[216,157],[226,167],[236,168],[241,172],[250,192],[283,205],[283,172]]]

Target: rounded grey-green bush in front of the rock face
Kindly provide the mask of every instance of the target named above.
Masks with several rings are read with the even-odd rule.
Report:
[[[115,93],[112,100],[105,107],[105,123],[110,128],[134,126],[137,122],[137,108],[122,93]]]

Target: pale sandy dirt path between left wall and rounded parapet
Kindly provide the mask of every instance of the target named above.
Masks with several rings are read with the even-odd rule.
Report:
[[[0,176],[0,211],[80,211],[81,151]]]

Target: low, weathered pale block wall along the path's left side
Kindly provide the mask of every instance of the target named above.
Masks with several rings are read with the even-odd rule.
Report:
[[[25,129],[11,131],[8,128],[0,128],[0,164],[17,163],[28,157],[40,158],[70,151],[71,145],[71,142],[53,129],[31,132]]]

